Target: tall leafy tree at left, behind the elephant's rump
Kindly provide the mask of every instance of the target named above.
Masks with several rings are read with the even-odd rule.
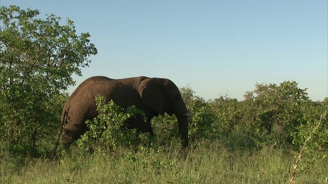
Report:
[[[60,17],[41,19],[39,14],[17,6],[0,8],[0,136],[11,145],[34,145],[46,136],[43,130],[53,123],[48,120],[57,116],[50,99],[73,85],[72,74],[81,76],[80,67],[97,54],[90,34],[76,35],[72,20],[61,26]]]

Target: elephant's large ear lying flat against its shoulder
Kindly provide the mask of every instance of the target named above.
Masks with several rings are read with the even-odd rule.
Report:
[[[141,81],[138,88],[141,103],[161,116],[164,116],[165,99],[162,91],[162,86],[155,78]]]

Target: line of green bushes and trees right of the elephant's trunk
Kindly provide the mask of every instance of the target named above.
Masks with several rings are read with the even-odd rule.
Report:
[[[328,150],[328,98],[312,101],[306,89],[299,88],[295,81],[256,84],[242,101],[223,96],[205,101],[195,96],[191,88],[181,91],[189,110],[195,114],[190,122],[191,137],[195,140],[222,139],[231,147],[242,149],[300,149],[320,123],[307,147]]]

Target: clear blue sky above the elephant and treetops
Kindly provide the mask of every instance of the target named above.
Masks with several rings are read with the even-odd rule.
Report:
[[[169,78],[204,99],[243,99],[258,83],[294,80],[328,96],[327,0],[13,1],[74,21],[98,54],[83,77]],[[71,93],[76,86],[69,89]]]

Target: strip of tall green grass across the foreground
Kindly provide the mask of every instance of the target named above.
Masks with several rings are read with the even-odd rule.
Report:
[[[71,147],[54,160],[0,154],[1,183],[289,183],[297,153],[265,147],[235,151],[218,142],[187,154],[175,144],[134,153]],[[303,152],[305,156],[306,151]],[[301,167],[302,166],[302,167]],[[322,160],[302,161],[295,183],[327,183]]]

